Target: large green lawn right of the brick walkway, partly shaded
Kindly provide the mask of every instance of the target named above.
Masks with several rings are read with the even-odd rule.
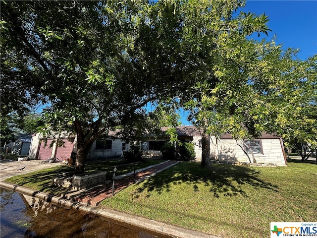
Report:
[[[258,168],[181,162],[108,198],[103,208],[225,238],[270,236],[270,222],[316,222],[317,165]]]

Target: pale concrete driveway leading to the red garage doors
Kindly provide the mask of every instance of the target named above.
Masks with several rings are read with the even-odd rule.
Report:
[[[41,163],[42,160],[0,161],[0,181],[4,179],[59,166],[62,163]],[[23,170],[20,170],[24,168]]]

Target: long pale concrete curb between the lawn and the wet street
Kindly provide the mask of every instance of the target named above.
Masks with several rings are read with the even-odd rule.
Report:
[[[157,172],[158,173],[158,172]],[[118,222],[127,223],[131,226],[140,227],[149,231],[157,232],[163,235],[177,237],[177,238],[219,238],[216,236],[204,234],[201,232],[172,226],[166,223],[126,214],[123,212],[113,211],[109,209],[100,209],[97,207],[90,207],[83,205],[81,202],[75,202],[72,199],[61,196],[52,196],[45,192],[36,191],[27,187],[19,186],[13,183],[1,181],[0,187],[10,189],[29,196],[37,197],[41,200],[51,202],[55,205],[68,207],[74,210],[95,214],[100,217],[105,217]]]

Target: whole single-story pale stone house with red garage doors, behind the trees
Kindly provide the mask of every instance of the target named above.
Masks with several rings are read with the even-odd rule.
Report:
[[[165,135],[168,127],[162,127],[161,136],[151,134],[145,135],[142,142],[141,150],[150,157],[160,157],[161,146],[169,140]],[[196,161],[201,161],[202,144],[201,132],[195,126],[178,126],[176,127],[178,140],[181,142],[191,142],[194,144]],[[69,139],[72,139],[69,141]],[[58,147],[58,143],[63,141],[64,144]],[[34,134],[31,141],[30,158],[48,159],[57,157],[64,160],[70,157],[73,151],[76,151],[76,139],[74,137],[59,137],[41,139],[39,134]],[[50,144],[52,145],[50,147]],[[130,144],[126,141],[115,137],[115,132],[109,132],[108,135],[94,141],[88,154],[88,160],[98,160],[106,158],[121,157],[123,151],[128,151]],[[220,138],[211,136],[210,139],[211,159],[219,162],[241,162],[253,163],[253,157],[257,163],[276,164],[277,166],[286,165],[283,141],[280,137],[262,133],[259,138],[253,140],[235,140],[230,134],[222,135]],[[177,148],[175,148],[177,150]],[[251,153],[253,152],[253,155]]]

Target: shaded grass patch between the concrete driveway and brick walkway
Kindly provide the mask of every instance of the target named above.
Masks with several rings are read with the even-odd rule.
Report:
[[[148,159],[143,163],[137,164],[136,169],[145,168],[151,165],[159,164],[161,162],[161,160]],[[122,175],[134,170],[134,165],[125,165],[121,160],[112,160],[87,163],[85,166],[85,171],[87,173],[107,171],[109,173],[107,173],[106,179],[110,180],[113,175],[114,167],[117,167],[117,171],[115,173],[116,175]],[[56,166],[50,169],[14,176],[5,179],[5,181],[26,186],[35,190],[48,192],[50,194],[58,194],[61,192],[66,192],[69,189],[55,186],[53,184],[53,179],[60,177],[62,173],[67,172],[74,172],[74,167],[66,165]]]

